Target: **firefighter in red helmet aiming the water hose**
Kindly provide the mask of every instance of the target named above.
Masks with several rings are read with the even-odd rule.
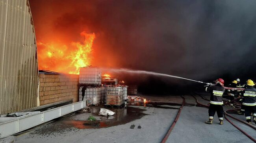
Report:
[[[213,123],[213,116],[215,112],[217,111],[217,115],[220,121],[220,125],[223,125],[223,101],[222,101],[222,96],[225,91],[224,89],[224,80],[219,78],[215,80],[216,85],[211,86],[211,87],[206,87],[205,91],[211,92],[211,97],[210,97],[210,106],[209,106],[209,121],[206,121],[205,123],[207,124],[212,124]]]

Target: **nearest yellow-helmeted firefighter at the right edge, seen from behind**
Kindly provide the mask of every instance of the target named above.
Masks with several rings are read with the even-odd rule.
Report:
[[[253,121],[256,123],[256,89],[254,85],[252,80],[247,80],[246,89],[242,92],[242,105],[244,105],[245,118],[248,123],[251,123],[251,113],[253,113]]]

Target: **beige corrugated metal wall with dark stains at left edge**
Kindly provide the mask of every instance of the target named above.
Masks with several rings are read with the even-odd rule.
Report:
[[[37,105],[36,55],[28,0],[0,0],[0,114]]]

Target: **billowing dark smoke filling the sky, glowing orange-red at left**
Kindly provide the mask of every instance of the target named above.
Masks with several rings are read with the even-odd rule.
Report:
[[[30,5],[37,41],[49,40],[47,35],[76,41],[81,31],[95,33],[96,66],[204,81],[256,80],[255,0],[30,0]]]

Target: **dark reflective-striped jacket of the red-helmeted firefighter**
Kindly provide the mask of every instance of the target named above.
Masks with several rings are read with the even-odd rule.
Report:
[[[224,87],[217,84],[211,87],[206,87],[205,90],[211,93],[210,104],[223,105],[222,96],[225,91]]]

